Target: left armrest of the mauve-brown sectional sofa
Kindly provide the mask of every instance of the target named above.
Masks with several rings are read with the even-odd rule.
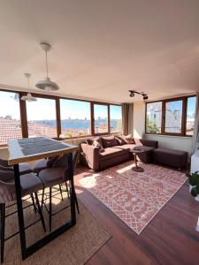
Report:
[[[81,149],[85,154],[85,159],[88,163],[88,167],[92,170],[99,170],[99,148],[82,143]]]

